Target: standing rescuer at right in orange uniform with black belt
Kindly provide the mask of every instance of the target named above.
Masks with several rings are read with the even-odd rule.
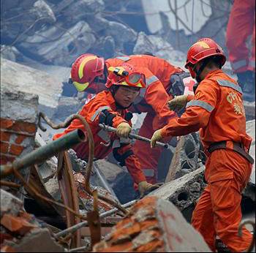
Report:
[[[248,154],[252,138],[246,135],[241,87],[221,70],[225,61],[222,48],[212,39],[200,39],[189,48],[185,67],[198,82],[195,97],[180,96],[168,102],[172,110],[186,105],[185,113],[154,132],[151,147],[169,135],[200,131],[208,154],[208,185],[195,207],[192,225],[213,252],[217,235],[232,252],[243,252],[252,240],[245,228],[238,236],[241,192],[254,162]]]

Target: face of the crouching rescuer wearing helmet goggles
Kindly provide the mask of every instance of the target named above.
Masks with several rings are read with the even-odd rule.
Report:
[[[138,87],[126,87],[120,86],[115,94],[116,102],[122,107],[129,107],[135,98],[140,93],[140,88]]]

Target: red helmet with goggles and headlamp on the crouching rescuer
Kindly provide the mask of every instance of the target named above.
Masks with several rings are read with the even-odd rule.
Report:
[[[135,71],[134,68],[131,69],[124,65],[121,67],[109,67],[108,72],[108,80],[105,84],[107,88],[113,85],[146,88],[145,75]]]

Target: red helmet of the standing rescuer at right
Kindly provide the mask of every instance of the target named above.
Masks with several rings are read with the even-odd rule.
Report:
[[[209,56],[219,56],[221,67],[226,62],[226,56],[224,55],[222,48],[216,42],[214,42],[213,39],[199,39],[189,48],[185,68],[189,69],[192,78],[195,78],[196,76],[196,72],[193,69],[194,65]]]

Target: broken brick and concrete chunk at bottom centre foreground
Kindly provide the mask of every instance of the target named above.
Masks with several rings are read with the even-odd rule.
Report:
[[[211,252],[206,242],[175,207],[145,197],[113,227],[93,252]]]

